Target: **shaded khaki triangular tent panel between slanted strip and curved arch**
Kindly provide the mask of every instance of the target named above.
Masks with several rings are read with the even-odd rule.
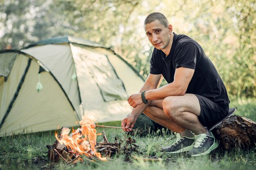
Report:
[[[0,129],[1,134],[5,131],[17,133],[20,132],[20,129],[25,130],[25,132],[44,131],[56,129],[61,124],[76,126],[75,122],[78,119],[74,110],[48,72],[41,73],[44,91],[39,93],[36,91],[35,84],[38,80],[34,77],[38,77],[38,69],[39,65],[33,60],[20,89],[19,97],[13,104],[11,112],[5,120],[6,123]],[[27,86],[34,87],[34,90],[28,89]],[[18,126],[13,126],[17,123]]]

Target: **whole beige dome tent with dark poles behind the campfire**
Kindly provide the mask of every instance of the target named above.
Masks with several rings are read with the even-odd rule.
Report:
[[[144,79],[106,46],[62,36],[0,51],[0,136],[117,121]]]

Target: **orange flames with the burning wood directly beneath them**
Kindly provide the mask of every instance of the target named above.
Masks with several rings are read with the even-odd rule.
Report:
[[[95,150],[97,134],[96,129],[91,127],[94,121],[93,117],[83,117],[79,122],[81,128],[73,130],[70,135],[70,129],[65,127],[61,128],[59,137],[55,133],[56,141],[47,146],[49,160],[58,162],[62,159],[66,163],[82,161],[83,158],[105,161],[106,158]]]

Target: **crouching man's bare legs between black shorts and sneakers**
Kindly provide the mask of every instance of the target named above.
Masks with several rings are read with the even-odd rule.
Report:
[[[152,101],[144,114],[174,132],[184,132],[186,129],[195,135],[207,132],[198,120],[200,104],[193,94],[169,96],[164,100]]]

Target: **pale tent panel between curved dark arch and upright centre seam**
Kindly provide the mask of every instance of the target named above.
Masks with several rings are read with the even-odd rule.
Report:
[[[21,51],[34,56],[47,66],[67,93],[76,112],[80,114],[79,106],[81,102],[78,95],[77,82],[71,79],[75,68],[69,44],[47,44]],[[43,83],[42,85],[44,86]]]

